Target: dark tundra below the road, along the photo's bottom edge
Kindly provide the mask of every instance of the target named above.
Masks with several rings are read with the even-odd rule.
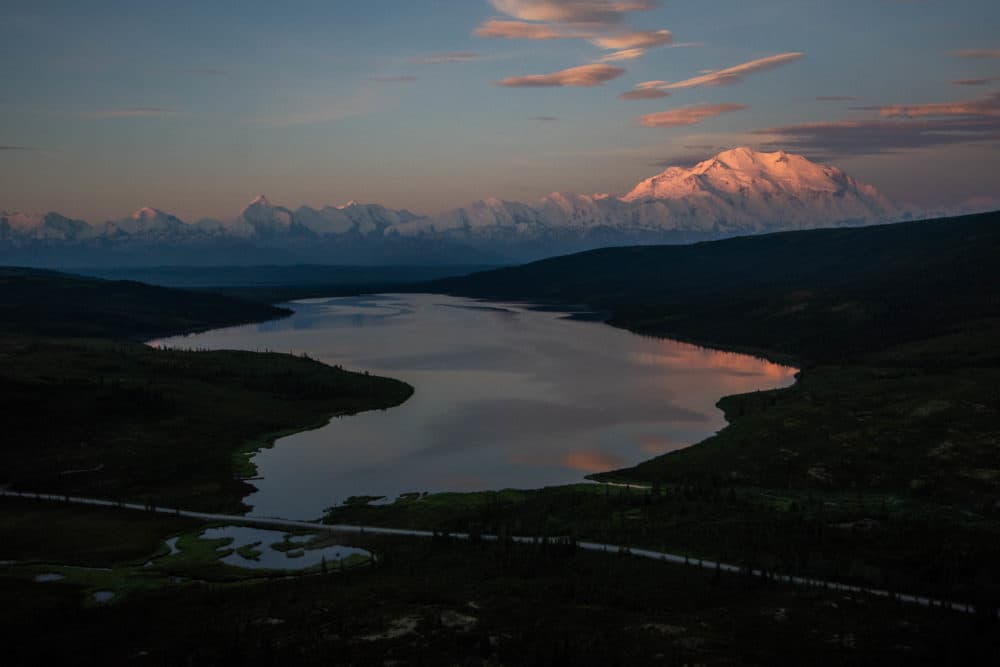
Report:
[[[26,538],[23,521],[51,532]],[[986,618],[555,544],[369,537],[354,539],[382,558],[356,571],[141,568],[159,549],[157,535],[193,528],[141,512],[0,500],[5,556],[33,562],[33,573],[53,562],[113,564],[131,582],[36,583],[11,568],[0,588],[5,664],[970,665],[1000,657]],[[161,568],[173,576],[157,584]],[[146,586],[136,583],[143,578]],[[120,599],[81,603],[95,585]]]

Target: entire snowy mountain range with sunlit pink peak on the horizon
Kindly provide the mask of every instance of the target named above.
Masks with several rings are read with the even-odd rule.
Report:
[[[773,231],[895,222],[914,213],[836,167],[735,148],[673,166],[623,196],[485,199],[434,216],[349,202],[295,210],[263,195],[230,220],[188,223],[155,208],[90,224],[0,213],[0,262],[153,264],[512,263],[602,246],[689,243]]]

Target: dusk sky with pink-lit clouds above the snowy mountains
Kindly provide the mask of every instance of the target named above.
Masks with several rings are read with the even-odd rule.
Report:
[[[621,194],[749,145],[1000,201],[996,0],[4,0],[0,210]]]

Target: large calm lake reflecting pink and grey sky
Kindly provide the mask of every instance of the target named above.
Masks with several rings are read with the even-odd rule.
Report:
[[[257,516],[311,519],[352,495],[582,481],[704,439],[725,425],[720,397],[796,372],[524,305],[388,294],[289,307],[284,320],[154,344],[305,352],[416,392],[257,454]]]

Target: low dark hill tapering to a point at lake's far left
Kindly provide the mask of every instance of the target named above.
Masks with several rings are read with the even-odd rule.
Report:
[[[0,267],[0,335],[143,340],[290,312],[216,294]]]

